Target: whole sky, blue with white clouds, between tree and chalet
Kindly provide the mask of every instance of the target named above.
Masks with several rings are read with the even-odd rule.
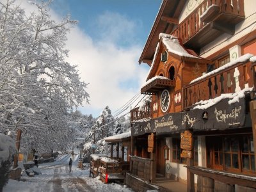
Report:
[[[18,0],[29,11],[26,0]],[[109,106],[116,111],[140,92],[149,70],[138,60],[161,0],[54,0],[52,19],[70,14],[79,20],[67,35],[67,61],[89,83],[90,104],[79,110],[94,117]],[[136,104],[136,103],[134,103]],[[126,111],[127,112],[127,111]]]

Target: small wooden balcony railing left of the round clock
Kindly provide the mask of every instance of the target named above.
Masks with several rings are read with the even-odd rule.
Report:
[[[151,118],[151,102],[145,108],[134,108],[131,110],[131,122],[141,120],[143,118]]]

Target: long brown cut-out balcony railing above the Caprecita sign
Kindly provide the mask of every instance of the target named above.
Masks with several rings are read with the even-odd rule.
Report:
[[[189,109],[200,100],[219,97],[223,93],[236,93],[246,87],[255,89],[255,65],[250,61],[239,62],[212,73],[184,88],[184,107]],[[236,74],[239,74],[236,77]]]

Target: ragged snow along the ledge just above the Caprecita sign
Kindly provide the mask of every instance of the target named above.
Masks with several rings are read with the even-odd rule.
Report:
[[[200,100],[200,102],[196,102],[198,106],[195,106],[193,109],[207,109],[210,108],[211,106],[214,106],[214,104],[217,104],[220,102],[222,99],[229,98],[228,104],[232,104],[234,102],[239,102],[239,99],[244,97],[244,92],[251,92],[253,88],[244,88],[240,92],[236,93],[225,93],[221,94],[219,97],[216,97],[214,99],[209,99],[209,100]]]

